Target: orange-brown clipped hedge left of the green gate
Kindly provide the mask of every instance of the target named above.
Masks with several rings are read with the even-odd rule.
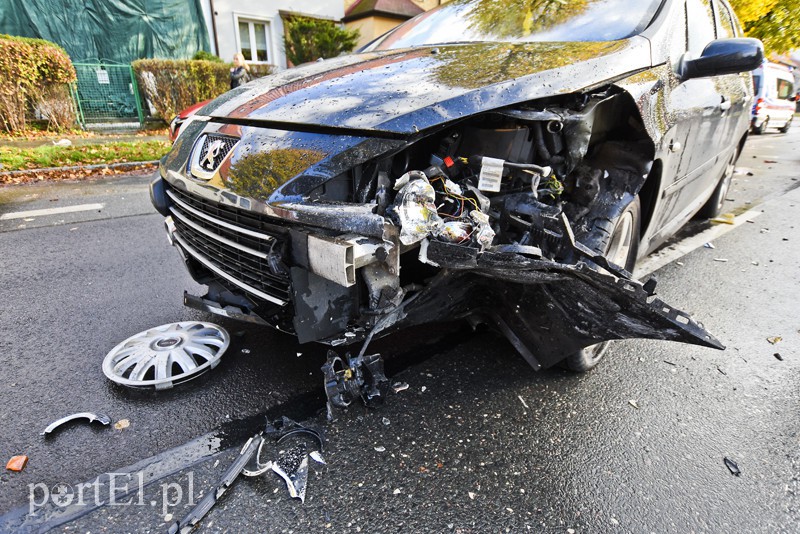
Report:
[[[75,68],[57,44],[0,35],[0,127],[24,130],[27,113],[37,107],[50,127],[69,128],[75,111],[67,84],[75,80]]]

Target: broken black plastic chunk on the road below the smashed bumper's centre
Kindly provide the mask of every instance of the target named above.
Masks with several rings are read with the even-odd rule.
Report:
[[[329,350],[322,372],[325,374],[329,419],[333,419],[334,407],[347,408],[357,397],[361,397],[368,408],[379,406],[383,404],[389,389],[389,380],[383,374],[383,359],[380,354],[355,358],[345,354],[342,359]]]

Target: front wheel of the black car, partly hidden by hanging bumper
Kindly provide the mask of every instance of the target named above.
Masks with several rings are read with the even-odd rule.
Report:
[[[639,252],[641,220],[642,207],[637,196],[615,220],[596,219],[592,225],[592,231],[582,242],[600,254],[610,253],[615,257],[607,256],[609,261],[632,271],[636,264],[636,255]],[[622,245],[625,250],[619,249],[618,245]],[[581,349],[567,356],[561,362],[561,366],[576,373],[585,373],[600,363],[610,344],[611,341],[603,341]]]

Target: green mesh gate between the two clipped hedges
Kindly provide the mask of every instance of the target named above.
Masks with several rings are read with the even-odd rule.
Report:
[[[130,65],[108,62],[74,65],[78,82],[73,98],[82,126],[144,123],[136,77]]]

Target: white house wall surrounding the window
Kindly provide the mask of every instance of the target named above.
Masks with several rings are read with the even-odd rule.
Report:
[[[269,27],[268,63],[286,68],[283,51],[283,21],[280,11],[339,21],[344,16],[342,0],[202,0],[211,47],[214,47],[212,6],[217,28],[219,50],[213,50],[225,61],[232,61],[239,51],[239,19],[263,22]]]

